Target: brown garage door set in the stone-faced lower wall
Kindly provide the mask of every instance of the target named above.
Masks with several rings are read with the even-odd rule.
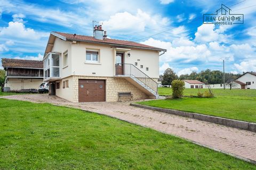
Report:
[[[78,80],[78,101],[106,101],[105,80]]]

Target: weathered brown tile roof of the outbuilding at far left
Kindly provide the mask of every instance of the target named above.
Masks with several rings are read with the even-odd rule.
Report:
[[[43,69],[43,61],[2,58],[3,67]]]

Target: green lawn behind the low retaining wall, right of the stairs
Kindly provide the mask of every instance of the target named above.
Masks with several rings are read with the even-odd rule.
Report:
[[[199,89],[204,92],[207,89]],[[212,89],[214,98],[183,98],[144,101],[140,104],[201,113],[235,120],[256,122],[256,90]],[[184,95],[197,95],[198,89],[185,89]],[[171,88],[159,88],[159,95],[171,95]]]

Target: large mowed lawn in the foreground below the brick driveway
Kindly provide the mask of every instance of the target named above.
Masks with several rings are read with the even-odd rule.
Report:
[[[256,169],[95,113],[7,99],[0,108],[0,169]]]

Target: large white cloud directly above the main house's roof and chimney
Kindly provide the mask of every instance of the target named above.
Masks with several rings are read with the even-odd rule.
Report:
[[[111,15],[109,20],[102,21],[104,29],[113,33],[124,33],[144,31],[145,28],[156,28],[168,23],[167,18],[159,15],[150,15],[138,9],[135,15],[129,12],[116,13]]]

